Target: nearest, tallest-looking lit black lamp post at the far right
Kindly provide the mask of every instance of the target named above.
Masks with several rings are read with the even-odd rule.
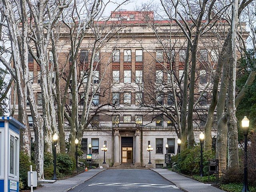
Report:
[[[247,160],[247,136],[249,132],[249,119],[244,116],[242,120],[242,128],[244,132],[244,187],[242,192],[249,192],[248,188],[248,160]]]

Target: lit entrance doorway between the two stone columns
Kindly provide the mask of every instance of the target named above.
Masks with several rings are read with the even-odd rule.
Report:
[[[133,163],[133,137],[122,137],[122,163]]]

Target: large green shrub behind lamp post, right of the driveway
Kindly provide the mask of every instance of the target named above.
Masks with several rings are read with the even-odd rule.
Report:
[[[203,152],[203,174],[208,175],[208,160],[215,158],[215,152]],[[180,154],[173,156],[176,160],[174,169],[182,174],[198,175],[200,172],[200,146],[188,147],[180,152]],[[172,161],[173,161],[172,160]]]

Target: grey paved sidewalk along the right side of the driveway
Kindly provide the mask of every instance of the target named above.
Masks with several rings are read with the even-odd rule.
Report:
[[[182,176],[176,172],[172,172],[166,169],[152,169],[154,172],[157,172],[162,177],[170,180],[178,188],[181,188],[185,192],[225,192],[211,186],[209,184],[201,183],[196,180],[190,179],[188,177]]]

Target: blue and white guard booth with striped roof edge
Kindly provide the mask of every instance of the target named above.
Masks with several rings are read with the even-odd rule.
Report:
[[[0,192],[19,191],[20,129],[13,117],[0,117]]]

